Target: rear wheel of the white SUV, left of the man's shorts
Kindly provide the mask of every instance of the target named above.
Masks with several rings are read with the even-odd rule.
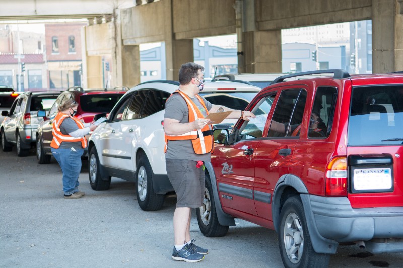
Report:
[[[136,166],[136,196],[140,208],[144,211],[161,209],[165,196],[154,192],[153,172],[147,157],[143,155]]]

